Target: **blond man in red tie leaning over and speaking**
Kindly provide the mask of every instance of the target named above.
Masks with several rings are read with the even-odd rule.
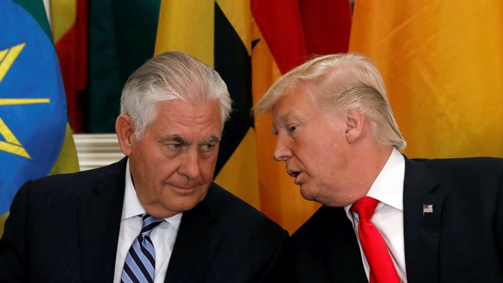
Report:
[[[307,61],[256,110],[272,112],[274,159],[322,204],[292,235],[293,281],[503,282],[503,160],[402,155],[369,58]]]

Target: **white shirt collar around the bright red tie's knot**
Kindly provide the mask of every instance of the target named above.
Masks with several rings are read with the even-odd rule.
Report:
[[[370,186],[367,196],[403,211],[404,176],[405,158],[396,148],[393,148],[381,172]],[[351,204],[344,206],[348,217],[350,207]]]

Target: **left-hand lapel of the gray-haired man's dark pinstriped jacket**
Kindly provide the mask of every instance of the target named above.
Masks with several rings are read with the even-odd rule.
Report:
[[[103,168],[95,185],[78,207],[84,282],[112,282],[124,202],[124,158]]]

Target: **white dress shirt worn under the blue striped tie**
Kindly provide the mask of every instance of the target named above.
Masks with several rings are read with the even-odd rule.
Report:
[[[136,196],[131,174],[129,173],[128,160],[126,165],[126,188],[124,192],[124,204],[122,206],[121,229],[119,232],[119,243],[117,245],[117,257],[115,260],[114,283],[119,283],[121,281],[122,269],[124,268],[127,252],[133,240],[141,231],[141,215],[146,212],[147,211],[141,206]],[[166,221],[159,224],[150,235],[156,251],[154,283],[164,282],[169,258],[171,258],[178,227],[182,220],[182,213],[170,218],[165,218],[164,220]]]

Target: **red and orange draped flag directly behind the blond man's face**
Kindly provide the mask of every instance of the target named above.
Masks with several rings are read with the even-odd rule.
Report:
[[[288,3],[252,0],[260,39],[253,50],[253,95],[257,102],[282,74],[313,54],[346,52],[351,26],[347,0],[301,0]],[[256,116],[261,210],[290,233],[319,207],[306,201],[285,173],[284,162],[273,160],[276,136],[270,115]]]

